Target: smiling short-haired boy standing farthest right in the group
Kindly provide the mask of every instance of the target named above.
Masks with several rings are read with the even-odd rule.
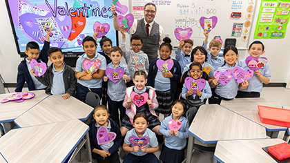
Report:
[[[248,49],[249,55],[255,58],[259,58],[264,54],[264,45],[261,41],[253,41],[253,43],[249,46]],[[248,70],[246,59],[242,59],[239,62],[240,66],[244,70]],[[269,64],[265,64],[259,70],[255,70],[255,75],[251,79],[249,79],[249,86],[244,90],[239,89],[237,98],[239,97],[260,97],[260,92],[262,91],[262,86],[264,84],[269,84],[271,78],[271,71],[269,68]]]

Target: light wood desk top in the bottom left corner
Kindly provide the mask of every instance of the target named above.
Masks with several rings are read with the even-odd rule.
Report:
[[[8,162],[64,162],[87,132],[77,119],[18,128],[0,138],[0,153]]]

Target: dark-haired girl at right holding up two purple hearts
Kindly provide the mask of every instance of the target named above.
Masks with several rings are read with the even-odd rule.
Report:
[[[227,46],[226,48],[224,48],[224,66],[218,68],[218,70],[223,72],[225,70],[233,69],[235,66],[238,66],[235,64],[235,61],[237,61],[238,57],[238,49],[235,48],[235,46]],[[245,80],[239,86],[238,82],[235,81],[234,77],[225,85],[219,84],[218,80],[219,79],[214,79],[213,82],[211,82],[211,86],[216,87],[215,92],[213,92],[211,104],[220,104],[222,99],[233,99],[235,95],[237,95],[239,87],[240,89],[245,89],[249,85],[248,81]]]

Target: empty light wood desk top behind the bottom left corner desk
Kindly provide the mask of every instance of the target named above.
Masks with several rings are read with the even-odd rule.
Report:
[[[63,99],[62,95],[50,95],[35,107],[14,120],[20,127],[62,122],[70,119],[86,120],[93,108],[75,97]]]

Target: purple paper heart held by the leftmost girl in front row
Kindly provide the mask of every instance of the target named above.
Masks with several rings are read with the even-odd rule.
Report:
[[[116,133],[109,132],[108,128],[106,128],[105,126],[101,126],[97,130],[97,144],[103,145],[108,144],[109,142],[113,142],[116,136]]]

